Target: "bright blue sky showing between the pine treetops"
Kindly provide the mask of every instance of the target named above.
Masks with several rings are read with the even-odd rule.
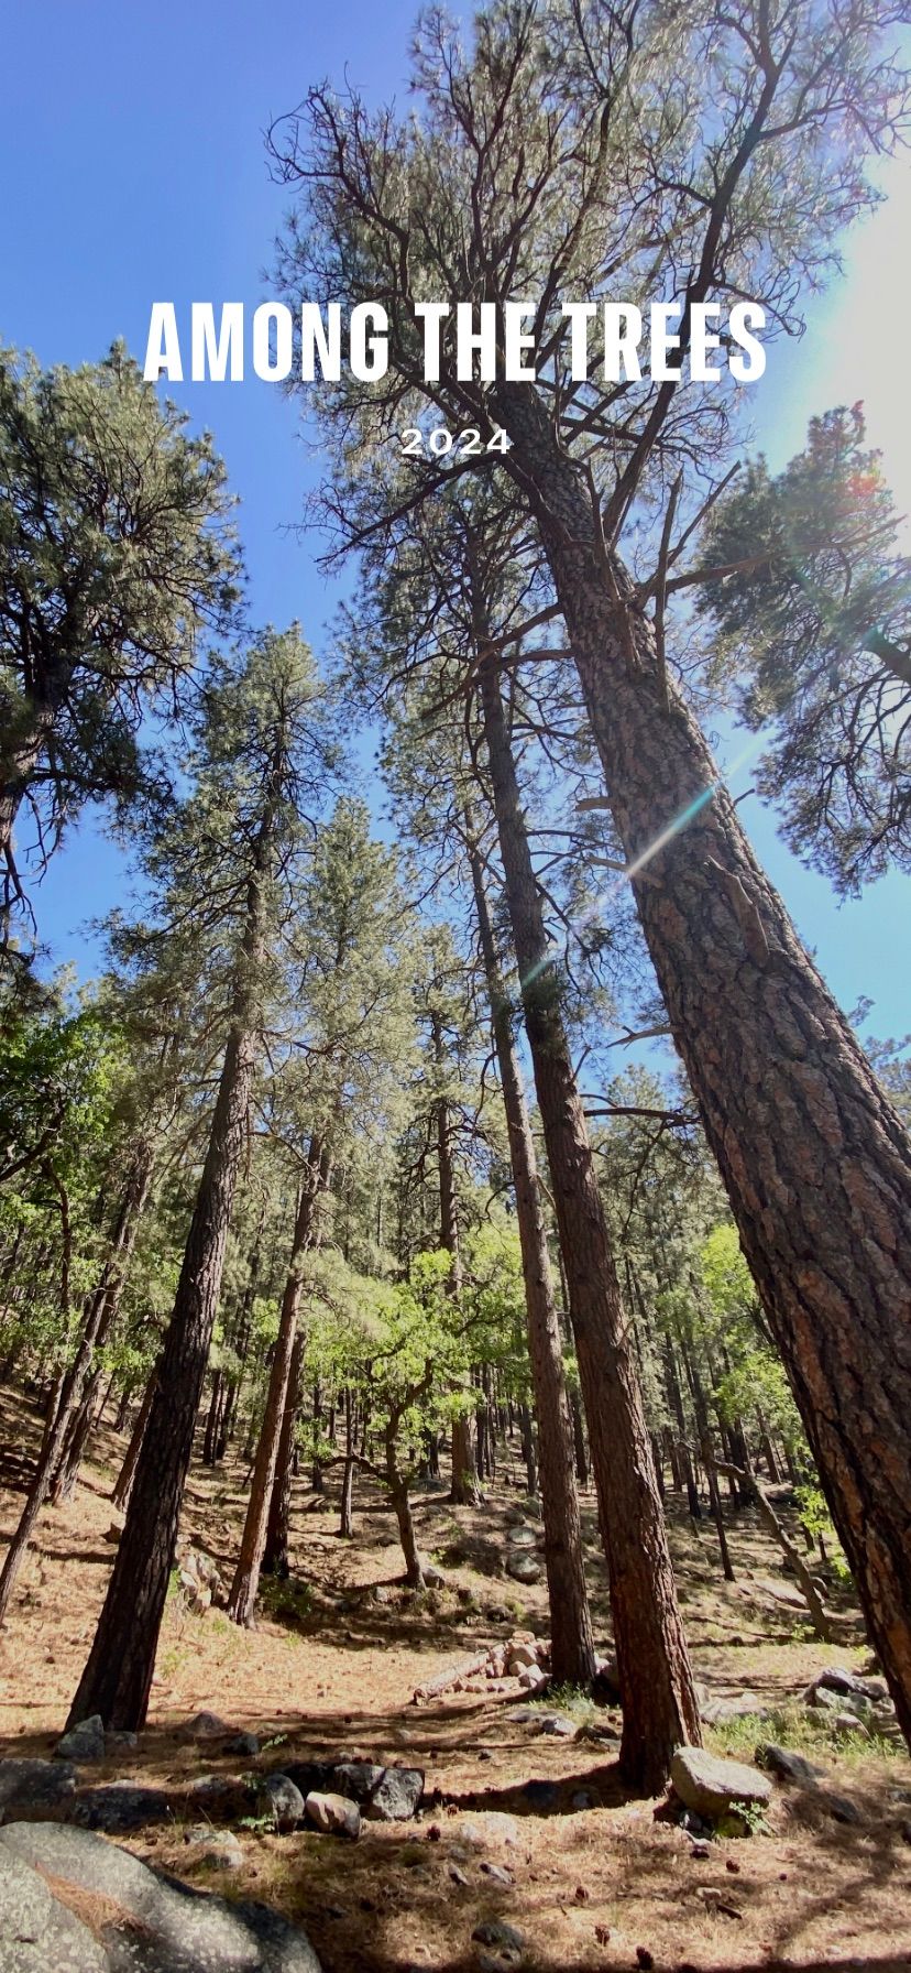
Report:
[[[181,320],[191,300],[262,300],[282,219],[264,126],[312,81],[341,79],[345,67],[371,95],[400,95],[412,16],[412,0],[323,8],[0,0],[0,182],[8,189],[0,339],[32,347],[41,363],[79,363],[122,335],[142,357],[152,300],[174,300]],[[803,343],[769,353],[755,389],[755,432],[773,464],[783,464],[810,412],[862,397],[872,442],[883,448],[887,477],[911,513],[907,162],[885,168],[883,189],[887,205],[846,241],[846,276],[834,296],[814,300]],[[252,377],[185,383],[174,395],[193,422],[211,426],[241,493],[252,620],[300,618],[319,651],[333,592],[314,562],[317,543],[288,531],[310,474],[292,406]],[[749,785],[747,767],[734,785]],[[830,886],[789,856],[755,799],[741,817],[842,1004],[870,994],[870,1030],[903,1034],[911,1026],[909,880],[891,876],[838,908]],[[35,898],[41,937],[91,971],[93,943],[79,927],[118,890],[120,860],[89,819]]]

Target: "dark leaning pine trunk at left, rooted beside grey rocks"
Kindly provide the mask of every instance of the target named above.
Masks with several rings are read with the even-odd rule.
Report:
[[[241,1168],[256,1058],[258,973],[264,953],[264,886],[272,862],[280,764],[276,748],[246,886],[246,925],[235,977],[231,1032],[203,1176],[164,1340],[124,1531],[95,1642],[69,1724],[101,1713],[105,1726],[136,1730],[146,1720],[179,1509],[193,1454],[211,1334],[221,1294],[225,1243]]]

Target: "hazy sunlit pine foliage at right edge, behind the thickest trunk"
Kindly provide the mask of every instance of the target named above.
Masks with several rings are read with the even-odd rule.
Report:
[[[716,681],[769,732],[759,787],[805,862],[858,892],[911,862],[911,560],[860,404],[812,418],[777,477],[751,464],[714,509],[700,588]]]

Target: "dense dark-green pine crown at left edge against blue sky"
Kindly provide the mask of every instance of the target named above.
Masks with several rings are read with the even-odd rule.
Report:
[[[211,440],[122,343],[77,371],[0,351],[0,793],[45,846],[162,781],[138,730],[231,620],[227,513]]]

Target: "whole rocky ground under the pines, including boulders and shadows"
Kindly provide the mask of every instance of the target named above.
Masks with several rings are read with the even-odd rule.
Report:
[[[10,1399],[0,1423],[2,1444],[22,1440]],[[333,1501],[302,1484],[294,1576],[254,1632],[217,1608],[245,1476],[195,1472],[148,1726],[130,1744],[87,1722],[59,1746],[120,1450],[103,1440],[43,1517],[0,1638],[0,1973],[911,1963],[909,1762],[856,1616],[838,1645],[812,1640],[751,1513],[730,1519],[734,1584],[708,1527],[674,1517],[710,1754],[749,1776],[688,1756],[668,1799],[625,1795],[609,1663],[601,1705],[544,1683],[519,1464],[477,1509],[420,1496],[440,1578],[420,1598],[379,1498],[343,1543]],[[8,1478],[2,1539],[22,1499]],[[609,1659],[592,1501],[586,1523]],[[16,1912],[34,1937],[12,1939]]]

